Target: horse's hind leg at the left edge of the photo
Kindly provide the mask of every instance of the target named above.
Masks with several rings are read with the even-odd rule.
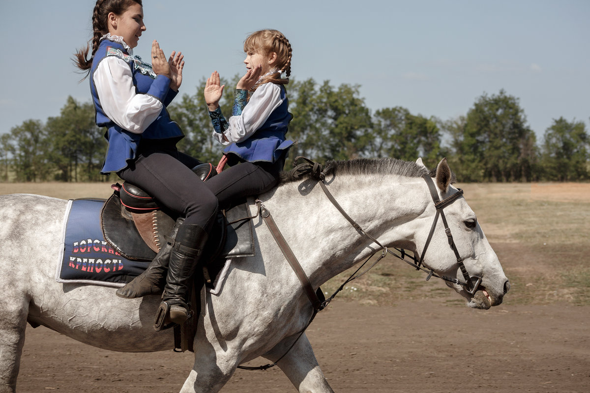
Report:
[[[28,313],[28,301],[19,300],[14,296],[0,300],[0,393],[17,391]]]

